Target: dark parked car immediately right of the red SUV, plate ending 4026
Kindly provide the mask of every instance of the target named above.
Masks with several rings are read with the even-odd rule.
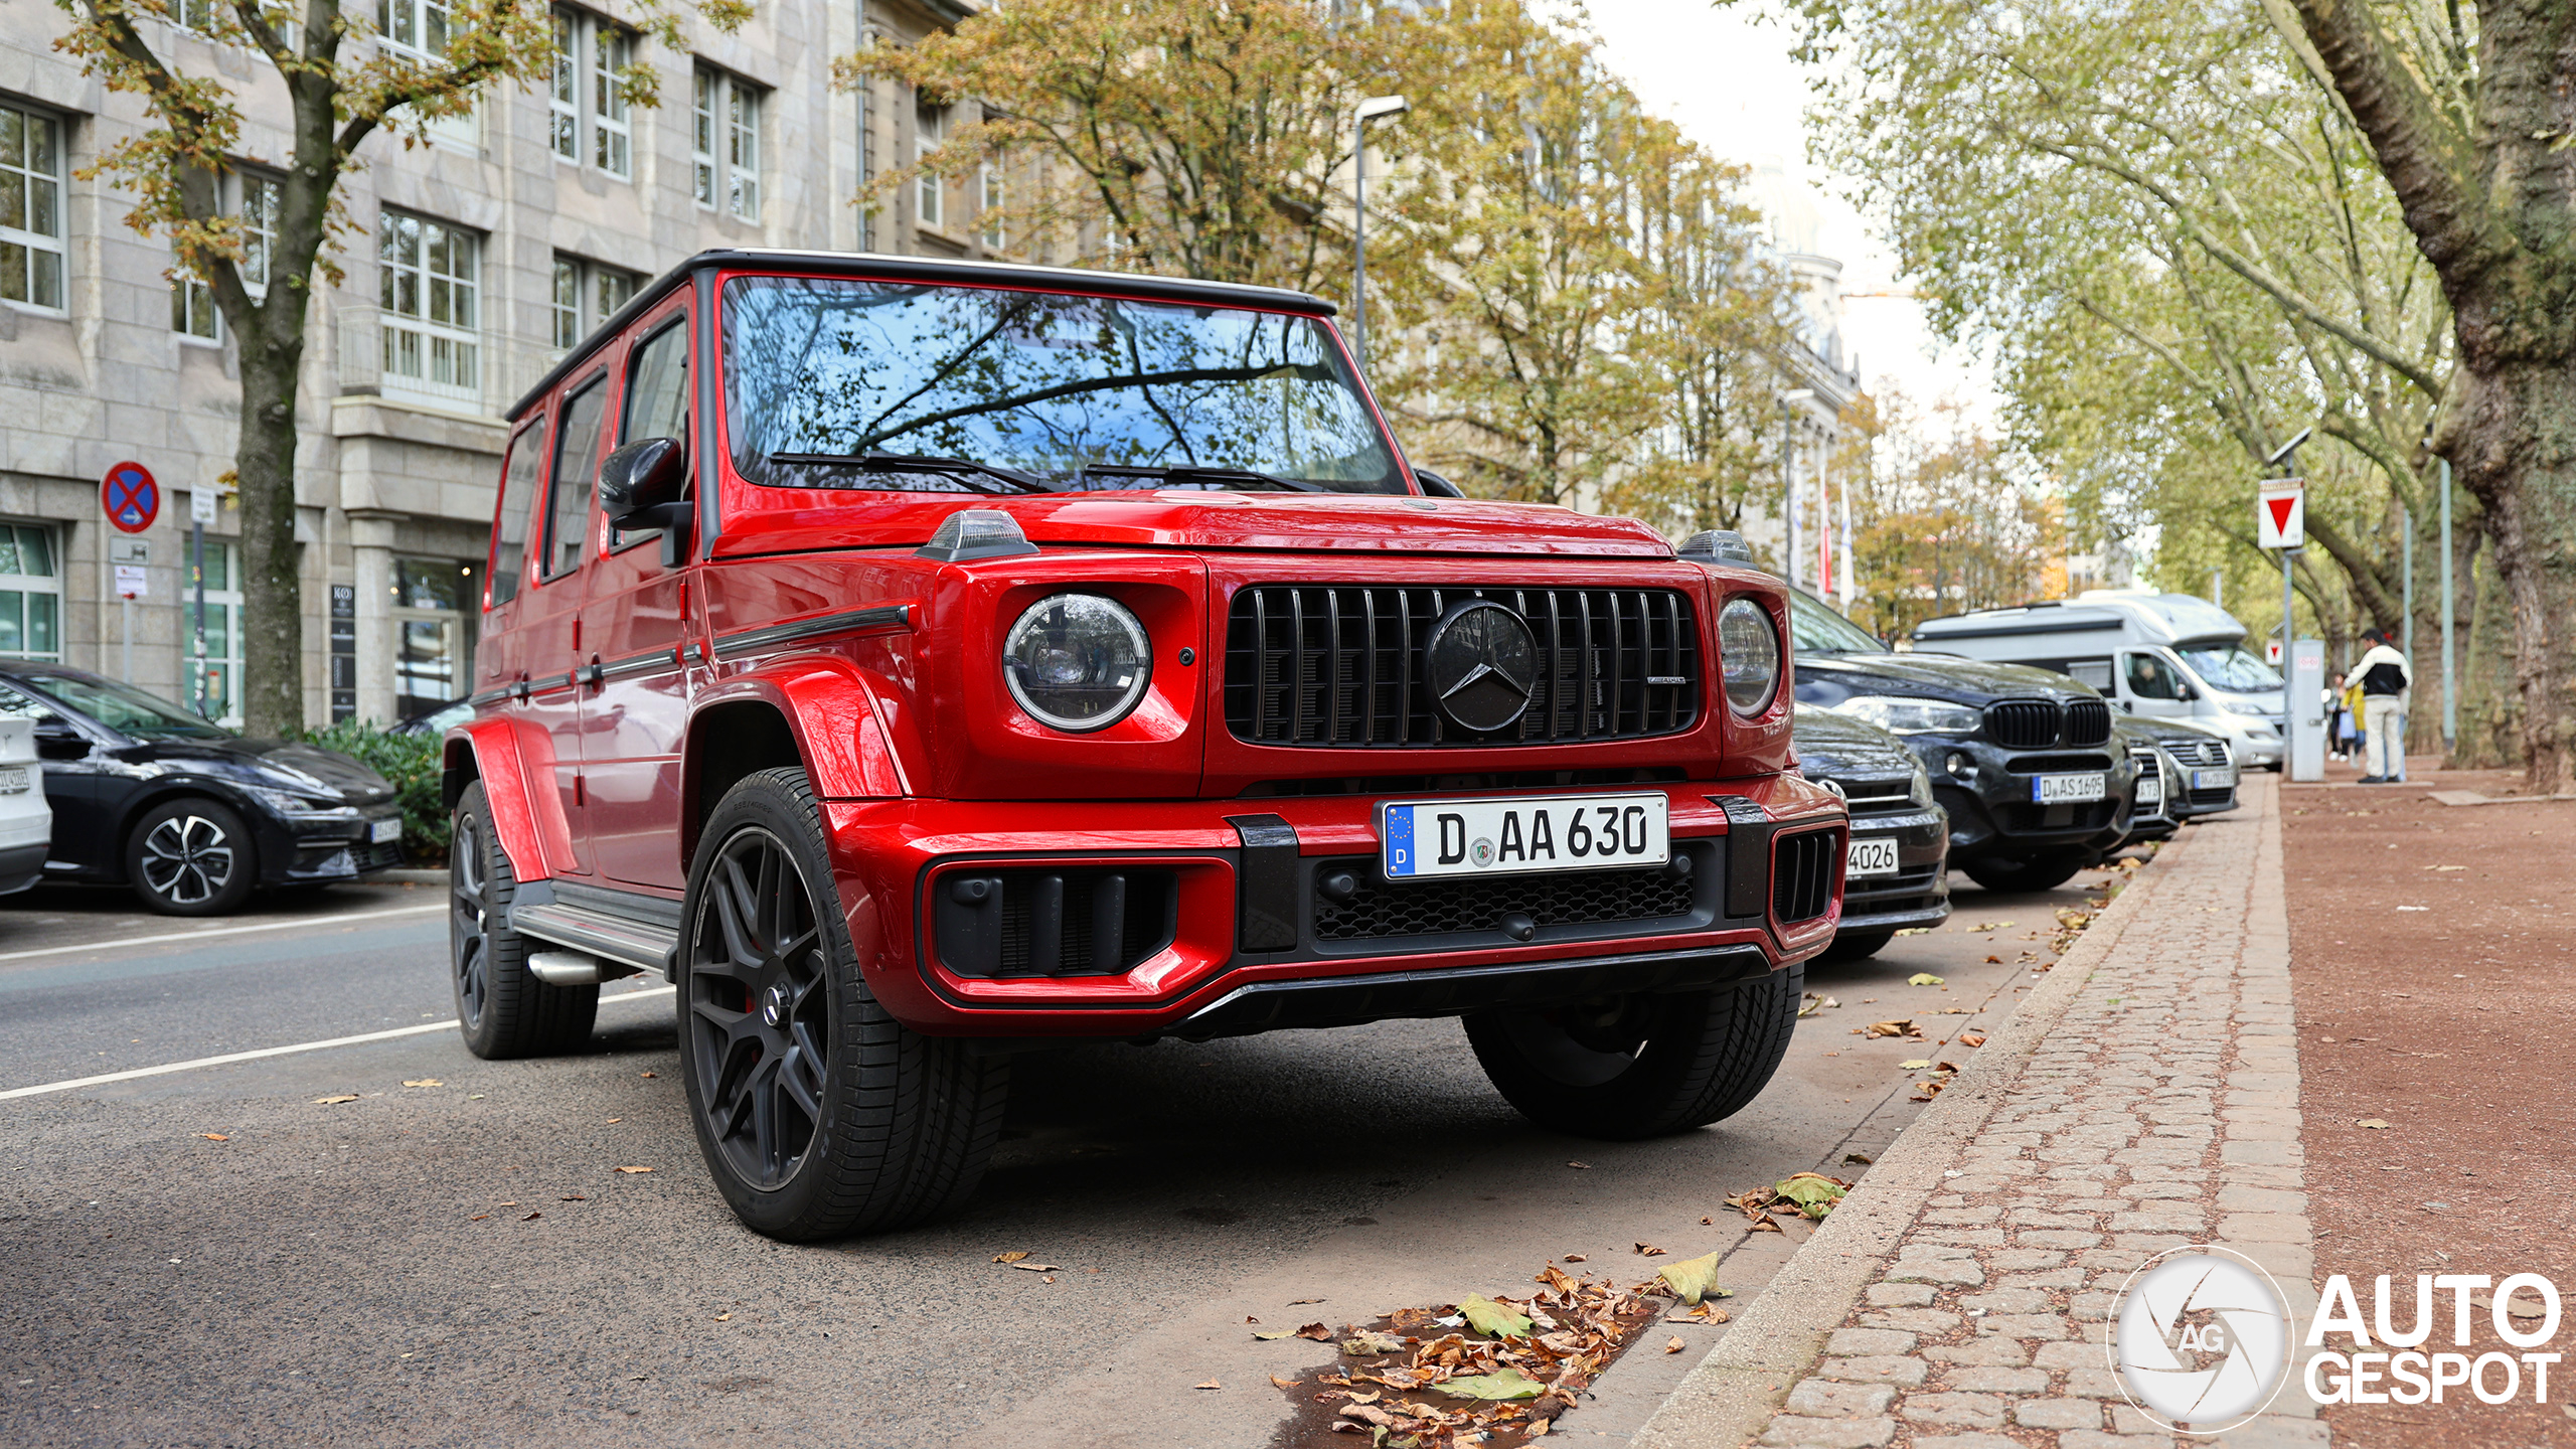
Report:
[[[1842,871],[1842,926],[1824,959],[1878,954],[1909,926],[1950,918],[1950,817],[1932,799],[1932,781],[1906,743],[1875,724],[1801,704],[1790,724],[1798,773],[1832,789],[1852,810],[1852,846]]]

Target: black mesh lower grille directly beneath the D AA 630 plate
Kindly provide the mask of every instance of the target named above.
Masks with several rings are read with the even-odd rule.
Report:
[[[1316,879],[1334,871],[1358,879],[1358,890],[1340,902],[1316,895],[1314,933],[1319,941],[1497,931],[1504,913],[1528,915],[1540,931],[1602,920],[1664,920],[1690,915],[1698,902],[1698,869],[1672,874],[1656,866],[1396,884],[1378,877],[1376,856],[1316,864]]]

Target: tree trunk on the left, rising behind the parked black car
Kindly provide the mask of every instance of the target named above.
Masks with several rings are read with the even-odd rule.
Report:
[[[281,286],[242,333],[242,727],[304,727],[304,583],[296,557],[296,382],[304,374],[304,289]]]

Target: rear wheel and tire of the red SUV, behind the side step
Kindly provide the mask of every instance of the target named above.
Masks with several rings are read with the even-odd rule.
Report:
[[[474,781],[456,802],[448,846],[448,990],[466,1052],[487,1062],[580,1049],[600,1013],[598,985],[546,985],[528,972],[538,946],[510,931],[513,895],[518,874]]]

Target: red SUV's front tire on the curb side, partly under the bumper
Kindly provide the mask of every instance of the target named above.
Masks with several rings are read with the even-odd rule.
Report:
[[[1803,990],[1801,964],[1734,990],[1486,1011],[1466,1039],[1530,1122],[1628,1142],[1744,1111],[1788,1055]]]

